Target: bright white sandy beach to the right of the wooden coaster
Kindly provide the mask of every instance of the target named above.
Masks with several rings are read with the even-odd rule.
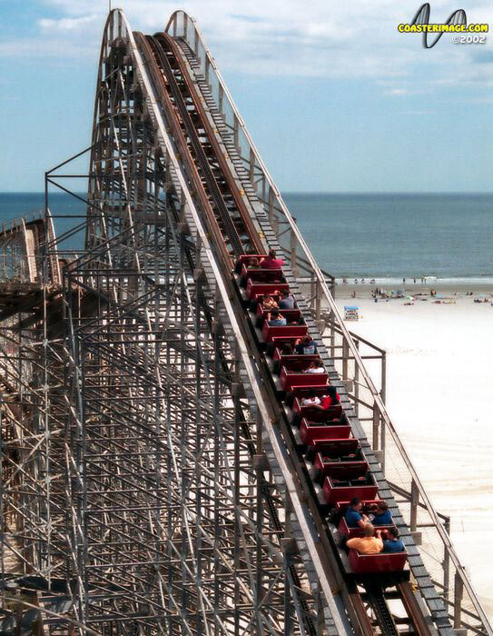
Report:
[[[493,568],[482,547],[493,542],[493,306],[465,295],[493,290],[441,286],[455,303],[405,305],[374,303],[372,287],[338,285],[336,303],[340,313],[357,304],[362,318],[346,323],[350,331],[387,350],[389,415],[436,509],[450,515],[452,541],[493,619]],[[417,403],[426,404],[419,417]]]

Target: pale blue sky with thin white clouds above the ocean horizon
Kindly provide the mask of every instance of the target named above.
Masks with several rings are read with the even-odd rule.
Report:
[[[113,6],[115,3],[113,3]],[[153,33],[177,8],[121,5]],[[404,0],[189,0],[232,96],[283,191],[491,192],[493,33],[444,35],[425,50],[400,35]],[[39,191],[44,171],[90,143],[106,0],[0,0],[0,190]],[[463,8],[493,25],[487,2]]]

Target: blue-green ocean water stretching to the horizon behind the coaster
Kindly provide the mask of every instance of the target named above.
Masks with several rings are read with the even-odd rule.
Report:
[[[320,267],[337,277],[493,282],[493,194],[284,194]],[[40,210],[43,193],[0,194],[0,222]],[[84,203],[50,194],[56,233]],[[56,218],[56,215],[73,218]],[[83,234],[64,243],[80,249]],[[489,281],[490,279],[490,281]]]

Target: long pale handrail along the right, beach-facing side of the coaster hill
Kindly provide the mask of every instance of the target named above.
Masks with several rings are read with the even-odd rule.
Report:
[[[200,41],[202,43],[202,47],[203,50],[205,51],[205,55],[207,56],[207,62],[209,65],[212,66],[212,69],[214,70],[214,73],[217,75],[218,81],[221,85],[222,88],[222,92],[223,94],[226,96],[228,102],[230,103],[230,105],[232,106],[232,111],[233,114],[235,115],[235,117],[237,118],[237,121],[239,122],[240,126],[242,127],[242,132],[243,134],[245,134],[245,137],[248,141],[248,143],[250,144],[251,147],[251,152],[254,154],[255,159],[258,161],[260,167],[261,167],[261,171],[263,172],[263,174],[265,175],[265,178],[267,180],[267,183],[271,186],[272,191],[276,194],[279,204],[281,205],[281,210],[282,213],[285,215],[288,223],[291,225],[291,231],[292,233],[296,236],[297,240],[299,241],[299,243],[301,244],[301,248],[304,251],[308,262],[311,265],[311,268],[313,270],[313,273],[315,274],[317,280],[320,283],[320,290],[323,293],[327,303],[329,304],[330,307],[330,311],[333,313],[334,315],[334,320],[336,323],[338,323],[338,326],[340,328],[340,331],[344,337],[344,339],[347,341],[348,346],[350,347],[350,351],[354,356],[354,359],[356,361],[356,363],[358,363],[359,367],[360,367],[360,373],[365,381],[365,383],[367,384],[367,387],[372,395],[372,398],[380,412],[380,416],[382,418],[382,420],[385,422],[385,425],[387,426],[390,436],[392,438],[392,441],[396,444],[399,453],[401,455],[401,457],[404,459],[404,461],[407,464],[407,468],[409,470],[409,473],[413,479],[413,481],[416,483],[419,495],[421,496],[423,502],[426,504],[427,510],[429,512],[429,516],[431,517],[432,521],[435,524],[435,527],[437,529],[437,532],[439,532],[439,537],[441,539],[441,541],[443,542],[445,549],[448,551],[449,553],[449,557],[450,560],[452,561],[452,563],[454,564],[456,571],[458,572],[458,577],[460,578],[460,580],[462,581],[462,584],[464,585],[464,589],[468,592],[468,596],[470,598],[470,600],[472,601],[472,604],[474,605],[475,610],[478,612],[478,618],[479,620],[482,622],[486,633],[488,634],[488,636],[493,636],[493,628],[491,627],[489,621],[488,621],[488,617],[486,615],[486,612],[484,611],[481,602],[478,600],[478,597],[476,595],[476,592],[473,590],[472,585],[470,583],[470,581],[468,580],[468,576],[466,574],[466,572],[464,571],[464,568],[462,566],[462,564],[460,563],[459,559],[458,559],[458,554],[455,551],[455,548],[453,546],[453,543],[450,541],[450,537],[449,534],[445,531],[445,529],[443,528],[440,520],[439,520],[439,515],[436,512],[433,504],[431,503],[430,499],[429,499],[429,495],[426,492],[426,489],[424,488],[422,482],[419,479],[418,476],[418,472],[416,471],[413,462],[411,462],[408,452],[406,451],[403,443],[400,441],[399,439],[399,434],[396,431],[393,423],[390,420],[389,417],[389,412],[386,409],[386,406],[384,404],[384,402],[381,399],[380,393],[377,391],[375,384],[373,383],[373,381],[370,378],[370,374],[366,371],[366,368],[363,364],[363,361],[360,357],[360,352],[358,351],[353,339],[350,336],[350,332],[348,330],[348,328],[346,327],[345,323],[342,321],[342,318],[340,316],[340,312],[339,309],[337,308],[337,305],[330,293],[330,289],[329,286],[327,285],[325,278],[320,270],[319,265],[316,263],[315,259],[313,258],[313,255],[311,254],[311,251],[307,245],[307,243],[305,242],[298,226],[294,223],[294,220],[291,216],[290,211],[288,210],[286,204],[283,202],[282,198],[281,198],[281,194],[277,188],[277,186],[274,184],[272,178],[271,178],[271,174],[269,173],[269,171],[267,170],[265,164],[263,164],[262,160],[261,160],[261,155],[259,154],[255,144],[253,144],[253,141],[251,139],[251,136],[242,120],[242,116],[240,115],[240,113],[238,112],[238,109],[236,107],[236,105],[234,104],[233,100],[232,100],[232,95],[229,92],[226,84],[224,83],[223,79],[222,79],[222,75],[219,72],[219,69],[217,67],[217,65],[215,64],[215,61],[211,55],[211,52],[209,50],[209,48],[207,47],[207,45],[205,45],[204,43],[204,39],[202,37],[202,34],[198,28],[198,26],[196,25],[196,21],[194,18],[192,18],[190,15],[186,14],[183,11],[175,11],[173,13],[173,15],[170,17],[164,31],[165,32],[169,32],[170,26],[173,25],[173,22],[177,19],[177,16],[182,13],[183,15],[186,15],[187,20],[189,20],[192,25],[193,28],[195,29],[195,33],[196,35],[200,38]]]

